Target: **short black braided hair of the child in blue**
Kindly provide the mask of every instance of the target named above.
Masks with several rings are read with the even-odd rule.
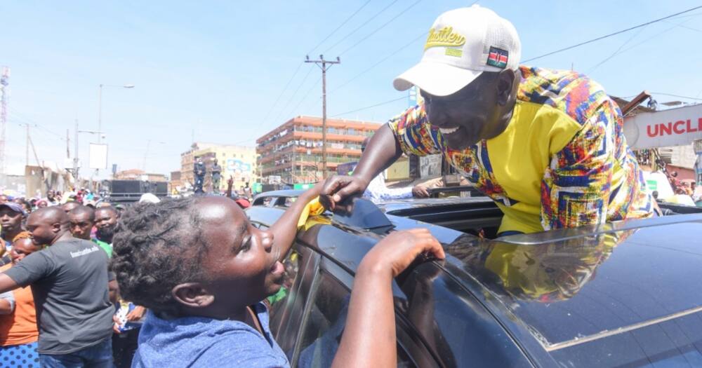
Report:
[[[112,241],[112,271],[125,300],[178,315],[171,290],[204,278],[206,253],[198,229],[197,198],[138,203],[120,218]]]

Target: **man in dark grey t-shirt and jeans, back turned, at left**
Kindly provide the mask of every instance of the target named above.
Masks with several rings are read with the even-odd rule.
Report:
[[[107,296],[107,255],[73,238],[69,228],[59,207],[32,212],[32,241],[48,247],[0,273],[0,292],[32,285],[42,367],[110,367],[114,309]]]

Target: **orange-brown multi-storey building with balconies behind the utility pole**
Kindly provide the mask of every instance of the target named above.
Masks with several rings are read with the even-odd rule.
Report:
[[[358,161],[361,142],[380,128],[366,121],[326,119],[326,170]],[[263,182],[287,184],[322,179],[322,118],[297,116],[256,139],[258,170]]]

